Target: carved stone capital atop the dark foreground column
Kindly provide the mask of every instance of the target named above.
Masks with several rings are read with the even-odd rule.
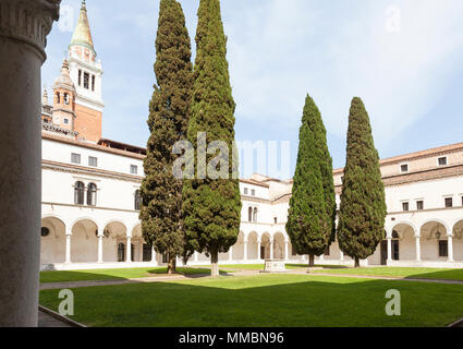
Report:
[[[47,35],[60,15],[61,0],[0,0],[0,36],[31,45],[42,61]]]

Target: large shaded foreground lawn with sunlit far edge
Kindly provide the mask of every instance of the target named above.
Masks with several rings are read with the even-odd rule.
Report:
[[[385,313],[401,292],[401,316]],[[88,326],[446,326],[463,316],[463,286],[312,275],[259,275],[74,289]],[[52,310],[59,290],[40,292]]]

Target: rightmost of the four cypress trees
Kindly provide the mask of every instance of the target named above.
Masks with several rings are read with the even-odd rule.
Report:
[[[385,236],[385,186],[368,113],[361,98],[352,100],[348,151],[339,214],[341,250],[355,260],[371,255]]]

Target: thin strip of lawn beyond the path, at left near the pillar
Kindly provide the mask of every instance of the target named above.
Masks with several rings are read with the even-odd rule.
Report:
[[[210,269],[208,268],[178,267],[176,272],[183,275],[210,274]],[[166,276],[166,267],[40,272],[40,282],[48,284],[68,281],[135,279],[144,277]],[[226,272],[222,273],[226,274]]]

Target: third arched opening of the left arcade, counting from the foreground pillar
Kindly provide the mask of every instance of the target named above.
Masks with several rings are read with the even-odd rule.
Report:
[[[103,262],[125,262],[126,232],[127,229],[121,221],[111,221],[106,225],[102,239]]]

